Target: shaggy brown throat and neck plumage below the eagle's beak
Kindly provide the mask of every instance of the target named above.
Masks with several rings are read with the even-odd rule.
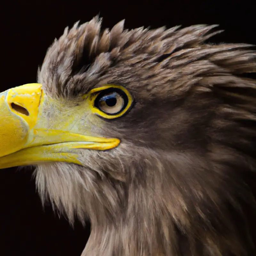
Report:
[[[224,174],[195,154],[142,154],[134,148],[134,155],[123,158],[130,168],[119,169],[130,173],[125,181],[116,180],[122,177],[118,171],[110,176],[76,165],[68,172],[62,163],[38,167],[42,197],[48,196],[71,221],[74,210],[80,220],[91,221],[83,256],[246,255],[244,248],[252,245],[244,213],[235,206],[236,191],[248,195],[248,201],[251,193],[242,182],[228,186]],[[103,162],[98,158],[99,166]],[[208,179],[213,172],[215,179]],[[243,222],[242,229],[233,226],[234,216]],[[246,247],[228,243],[238,237]]]

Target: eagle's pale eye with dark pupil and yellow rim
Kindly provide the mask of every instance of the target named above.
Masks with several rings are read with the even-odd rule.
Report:
[[[123,116],[132,107],[132,96],[123,86],[108,84],[89,94],[92,111],[107,119]]]

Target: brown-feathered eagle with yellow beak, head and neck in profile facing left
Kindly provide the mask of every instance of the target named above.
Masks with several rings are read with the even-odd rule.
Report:
[[[217,25],[66,28],[0,94],[0,168],[89,220],[82,256],[256,255],[256,52]],[[86,241],[85,241],[86,242]]]

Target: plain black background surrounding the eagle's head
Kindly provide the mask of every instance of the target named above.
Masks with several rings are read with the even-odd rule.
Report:
[[[211,42],[256,44],[253,1],[3,1],[0,7],[0,91],[36,82],[38,65],[55,37],[77,20],[100,13],[103,27],[220,24]],[[1,138],[0,138],[1,146]],[[50,206],[43,210],[31,169],[0,170],[0,255],[79,256],[90,224],[71,228]]]

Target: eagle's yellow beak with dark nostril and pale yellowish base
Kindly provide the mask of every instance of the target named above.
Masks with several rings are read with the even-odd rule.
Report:
[[[86,100],[70,108],[47,97],[41,84],[0,93],[0,169],[45,161],[81,164],[75,149],[117,147],[119,139],[92,136],[92,123],[84,118],[90,115]]]

